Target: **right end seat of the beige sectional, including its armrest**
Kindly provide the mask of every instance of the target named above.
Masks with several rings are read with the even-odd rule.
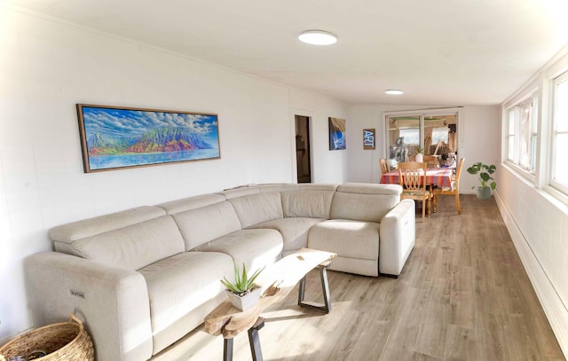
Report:
[[[414,202],[401,202],[396,185],[339,185],[330,219],[310,229],[308,247],[337,254],[330,270],[398,277],[414,247],[414,212],[408,208]]]

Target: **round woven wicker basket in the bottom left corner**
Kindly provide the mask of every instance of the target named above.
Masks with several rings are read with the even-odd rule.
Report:
[[[41,361],[93,361],[94,349],[91,337],[85,331],[83,322],[73,313],[68,322],[36,328],[0,348],[0,361],[4,357],[26,356],[42,350]]]

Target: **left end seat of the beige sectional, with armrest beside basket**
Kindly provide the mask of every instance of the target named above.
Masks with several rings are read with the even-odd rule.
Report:
[[[225,299],[230,255],[185,252],[163,208],[140,207],[51,229],[56,252],[27,260],[36,323],[87,320],[98,360],[146,360]],[[48,280],[57,280],[51,282]]]

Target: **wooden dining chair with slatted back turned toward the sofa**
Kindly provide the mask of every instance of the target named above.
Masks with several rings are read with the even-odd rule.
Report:
[[[432,193],[430,187],[424,182],[428,165],[416,161],[406,161],[398,163],[398,184],[402,186],[400,199],[422,200],[422,222],[428,208],[428,216],[430,216],[430,200]]]

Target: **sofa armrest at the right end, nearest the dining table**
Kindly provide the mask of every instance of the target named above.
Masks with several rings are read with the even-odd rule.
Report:
[[[379,272],[398,276],[416,240],[414,200],[401,200],[381,220]]]

